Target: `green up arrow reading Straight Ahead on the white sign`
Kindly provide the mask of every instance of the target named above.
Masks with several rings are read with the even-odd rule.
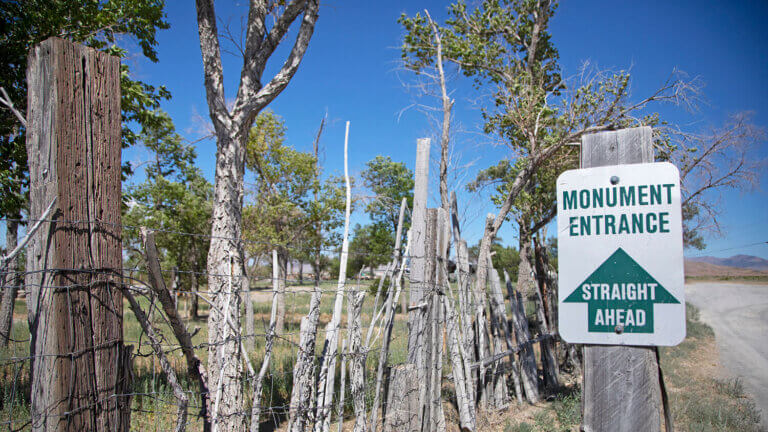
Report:
[[[653,333],[653,305],[680,301],[618,248],[563,303],[587,303],[590,332]]]

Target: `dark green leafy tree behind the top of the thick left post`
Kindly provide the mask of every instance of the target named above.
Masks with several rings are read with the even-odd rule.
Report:
[[[27,105],[27,53],[43,40],[56,36],[126,57],[127,50],[118,43],[128,37],[138,44],[141,53],[157,61],[157,30],[169,28],[162,0],[25,0],[0,3],[0,87],[10,103],[24,116]],[[161,122],[156,108],[170,94],[135,80],[127,64],[120,76],[123,114],[123,145],[135,144],[142,127]],[[138,125],[138,130],[135,126]],[[26,206],[28,185],[26,131],[9,109],[0,109],[0,216],[18,217]],[[125,165],[124,171],[130,172]]]

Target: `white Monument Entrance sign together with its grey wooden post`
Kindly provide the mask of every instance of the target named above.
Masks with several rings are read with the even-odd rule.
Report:
[[[679,173],[652,163],[651,135],[587,135],[582,169],[557,180],[559,331],[589,344],[584,431],[659,431],[655,346],[685,338]]]

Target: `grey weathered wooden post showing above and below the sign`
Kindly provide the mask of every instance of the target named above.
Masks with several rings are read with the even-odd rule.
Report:
[[[581,167],[653,162],[650,127],[587,135]],[[661,389],[653,347],[585,346],[582,430],[661,429]]]

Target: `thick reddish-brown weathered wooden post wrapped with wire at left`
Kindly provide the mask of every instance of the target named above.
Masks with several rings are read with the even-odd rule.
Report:
[[[51,38],[30,52],[27,250],[32,429],[128,430],[120,227],[120,61]]]

